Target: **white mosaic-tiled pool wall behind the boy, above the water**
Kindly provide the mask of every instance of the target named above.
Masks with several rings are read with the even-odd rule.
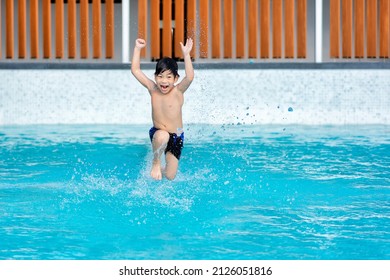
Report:
[[[153,70],[144,72],[153,78]],[[390,124],[390,70],[195,75],[185,123]],[[0,70],[0,125],[94,123],[151,123],[149,94],[130,70]]]

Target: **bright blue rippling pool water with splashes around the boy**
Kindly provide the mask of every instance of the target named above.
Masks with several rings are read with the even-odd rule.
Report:
[[[0,259],[390,259],[389,126],[0,127]]]

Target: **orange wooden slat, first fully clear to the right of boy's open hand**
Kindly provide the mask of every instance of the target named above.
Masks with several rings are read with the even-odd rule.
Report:
[[[200,58],[208,58],[209,47],[209,1],[200,0],[199,2],[199,51]]]

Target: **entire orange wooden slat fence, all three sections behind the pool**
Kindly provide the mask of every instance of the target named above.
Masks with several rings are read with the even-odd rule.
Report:
[[[191,52],[200,58],[306,58],[307,57],[307,0],[139,0],[139,36],[146,38],[151,31],[150,56],[174,56],[182,59],[180,42],[188,37],[197,39]],[[0,0],[0,3],[2,1]],[[15,27],[17,16],[17,46],[19,59],[25,59],[30,49],[30,58],[39,58],[39,17],[42,9],[42,57],[64,59],[64,1],[18,0],[5,2],[5,57],[15,57]],[[3,2],[3,3],[4,3]],[[390,56],[390,1],[389,0],[329,0],[330,4],[330,57],[331,58],[389,58]],[[39,4],[41,3],[41,4]],[[105,0],[105,42],[102,42],[101,0],[66,1],[68,7],[68,57],[77,57],[77,28],[80,28],[80,57],[89,58],[89,8],[92,7],[92,57],[102,58],[105,43],[105,58],[114,57],[114,0]],[[149,7],[150,3],[150,7]],[[172,5],[175,18],[172,18]],[[40,6],[39,6],[40,5]],[[53,6],[55,5],[55,6]],[[76,19],[77,7],[80,19]],[[187,7],[187,10],[185,8]],[[54,21],[51,11],[54,8]],[[150,9],[150,10],[149,10]],[[199,31],[196,30],[196,13],[199,13]],[[29,17],[27,17],[29,12]],[[150,15],[150,28],[148,16]],[[223,17],[223,25],[222,25]],[[234,18],[235,17],[235,18]],[[26,20],[29,19],[27,23]],[[162,26],[160,26],[162,20]],[[173,26],[173,20],[175,25]],[[272,20],[272,22],[271,22]],[[77,25],[79,23],[79,25]],[[235,25],[234,25],[235,23]],[[29,26],[29,29],[27,29]],[[78,27],[79,26],[79,27]],[[52,33],[52,28],[55,32]],[[172,34],[174,28],[174,34]],[[223,28],[223,29],[222,29]],[[1,30],[1,28],[0,28]],[[211,37],[209,38],[209,30]],[[28,34],[29,32],[30,34]],[[161,33],[160,33],[161,32]],[[222,34],[223,33],[223,34]],[[52,42],[51,36],[55,36]],[[1,35],[1,34],[0,34]],[[172,37],[174,36],[174,37]],[[260,36],[260,38],[259,38]],[[27,38],[30,39],[29,44]],[[162,40],[162,38],[164,38]],[[272,40],[271,40],[272,39]],[[235,46],[233,41],[235,40]],[[52,43],[55,50],[52,53]],[[260,44],[259,44],[260,43]],[[210,53],[209,53],[210,49]],[[0,45],[0,57],[1,57]],[[272,51],[272,53],[271,53]],[[340,53],[341,51],[341,53]],[[146,50],[143,50],[146,57]]]

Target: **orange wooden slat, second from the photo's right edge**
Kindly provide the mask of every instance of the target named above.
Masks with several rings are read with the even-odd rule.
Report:
[[[377,40],[377,2],[376,0],[367,0],[367,57],[376,58],[376,40]]]

